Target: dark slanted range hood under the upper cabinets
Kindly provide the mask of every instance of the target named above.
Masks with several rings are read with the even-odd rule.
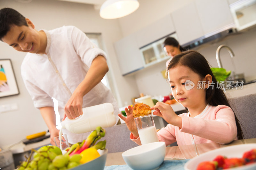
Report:
[[[237,33],[237,30],[235,28],[235,24],[230,24],[226,27],[223,27],[221,29],[218,29],[214,32],[205,34],[204,36],[197,38],[196,40],[190,41],[186,44],[182,44],[181,47],[185,49],[191,49],[195,48],[197,46],[200,46],[202,44],[211,42],[211,41],[218,41],[222,38],[225,38],[226,36],[230,34]]]

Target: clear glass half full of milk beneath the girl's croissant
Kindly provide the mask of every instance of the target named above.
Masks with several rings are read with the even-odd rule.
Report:
[[[134,120],[138,129],[141,144],[159,142],[152,114],[135,117]]]

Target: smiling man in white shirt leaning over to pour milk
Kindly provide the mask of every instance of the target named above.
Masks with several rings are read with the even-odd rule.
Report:
[[[17,51],[27,52],[21,75],[51,133],[51,144],[59,136],[52,98],[58,100],[60,118],[82,115],[82,107],[116,100],[101,79],[108,71],[106,54],[75,26],[51,31],[35,29],[34,24],[11,8],[0,10],[0,40]],[[67,133],[68,142],[81,142],[87,134]]]

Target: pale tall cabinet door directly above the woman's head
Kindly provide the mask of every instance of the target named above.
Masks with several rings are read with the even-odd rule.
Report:
[[[172,18],[181,46],[204,35],[194,2],[172,12]]]

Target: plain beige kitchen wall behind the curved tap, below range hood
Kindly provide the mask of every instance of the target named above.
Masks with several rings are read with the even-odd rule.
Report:
[[[236,74],[244,73],[245,81],[256,79],[256,28],[243,33],[231,35],[216,43],[207,44],[196,49],[208,60],[212,67],[218,67],[216,60],[216,49],[221,45],[228,45],[234,52],[234,64],[232,65],[231,57],[226,48],[220,51],[220,60],[223,68],[235,71]],[[235,67],[235,68],[234,68]]]

